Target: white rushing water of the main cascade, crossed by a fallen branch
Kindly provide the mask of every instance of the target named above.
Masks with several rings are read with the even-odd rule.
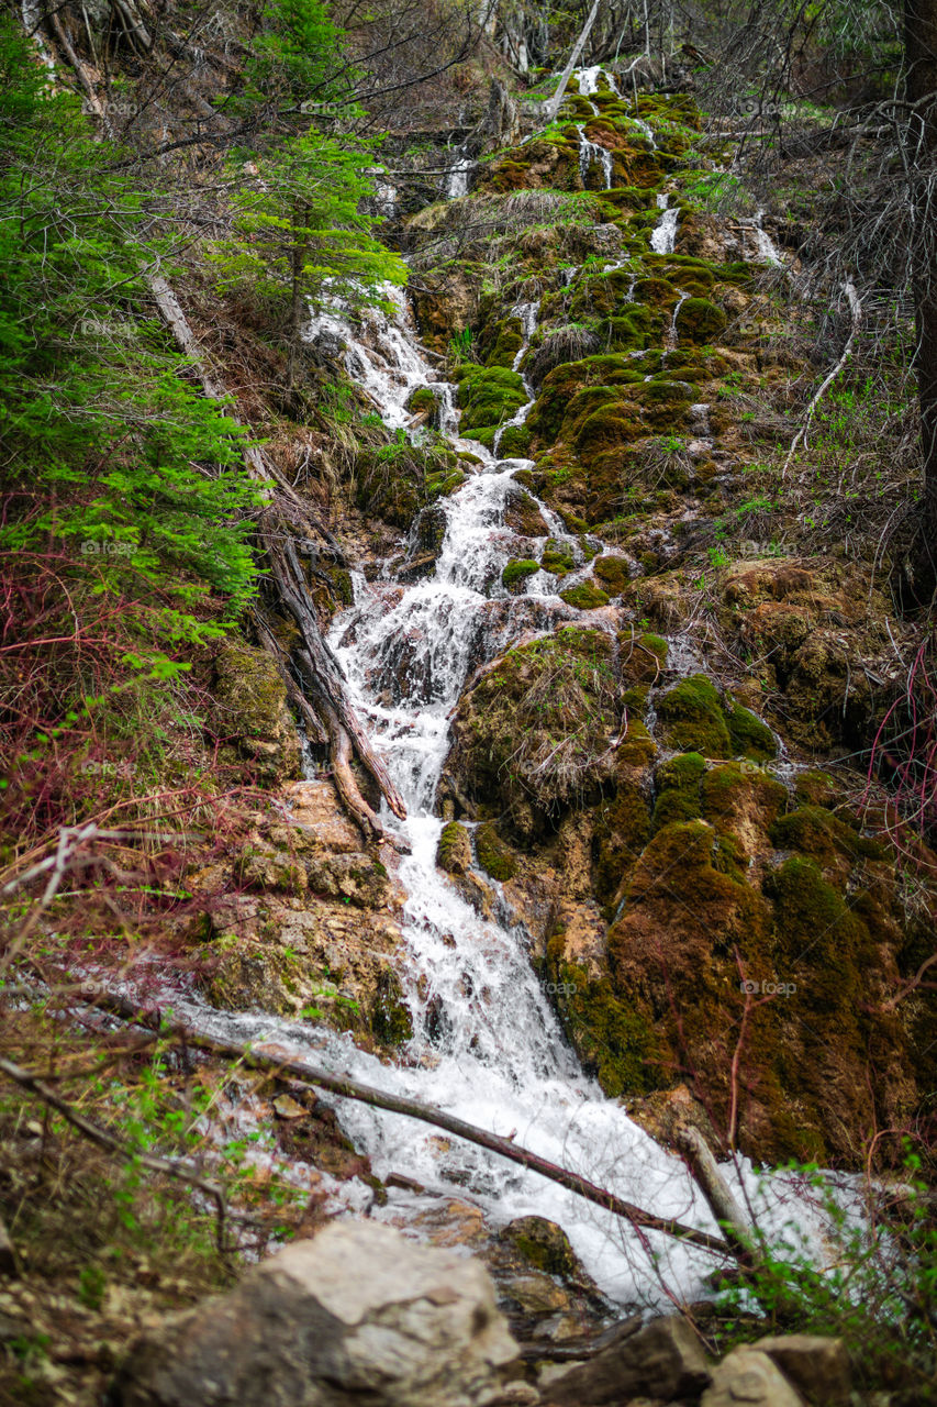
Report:
[[[377,315],[364,333],[345,328],[348,363],[362,369],[387,425],[405,418],[404,402],[419,376],[435,381],[405,301],[393,295],[395,318]],[[536,305],[516,311],[525,326],[519,366],[536,326]],[[312,1047],[318,1064],[514,1135],[656,1214],[715,1230],[682,1162],[582,1074],[535,976],[526,934],[483,920],[435,864],[443,825],[433,815],[435,794],[449,749],[449,716],[466,678],[521,632],[582,619],[552,594],[546,573],[529,578],[525,595],[504,590],[501,570],[518,546],[504,511],[514,474],[529,461],[498,461],[474,442],[460,442],[456,429],[453,424],[453,443],[470,446],[484,463],[445,501],[447,528],[435,575],[401,595],[394,582],[367,584],[355,574],[355,605],[331,632],[359,715],[407,802],[405,822],[388,815],[384,820],[411,847],[400,864],[408,895],[401,981],[414,1037],[401,1064],[388,1067],[349,1037],[305,1024],[229,1013],[212,1013],[210,1020],[224,1024],[228,1036],[234,1027],[241,1038],[273,1040],[277,1050]],[[550,533],[574,545],[556,516],[540,509]],[[537,547],[530,543],[526,554],[536,556]],[[616,1300],[660,1304],[661,1280],[682,1296],[703,1293],[701,1276],[713,1268],[706,1252],[650,1237],[658,1256],[651,1266],[629,1227],[557,1185],[457,1140],[440,1140],[401,1116],[350,1102],[339,1102],[339,1110],[378,1173],[404,1172],[443,1195],[456,1182],[495,1221],[539,1214],[560,1223],[587,1269]],[[726,1168],[726,1175],[758,1209],[765,1231],[793,1217],[819,1240],[820,1216],[803,1189],[795,1190],[782,1176],[763,1189],[744,1161]],[[408,1196],[395,1193],[394,1214],[401,1204],[405,1211]]]

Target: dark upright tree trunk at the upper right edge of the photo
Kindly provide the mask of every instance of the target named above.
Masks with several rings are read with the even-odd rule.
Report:
[[[937,0],[905,0],[906,96],[913,104],[907,135],[912,190],[912,290],[914,370],[924,460],[923,501],[912,554],[912,591],[920,605],[937,590]]]

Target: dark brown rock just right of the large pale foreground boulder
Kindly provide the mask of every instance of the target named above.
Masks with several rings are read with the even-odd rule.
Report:
[[[668,1401],[694,1397],[709,1382],[709,1369],[689,1324],[682,1318],[627,1320],[606,1335],[606,1345],[581,1368],[550,1383],[557,1407],[602,1407],[646,1393]]]

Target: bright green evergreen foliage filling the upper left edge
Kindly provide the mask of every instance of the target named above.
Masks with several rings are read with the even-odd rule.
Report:
[[[131,667],[169,668],[155,637],[218,635],[193,606],[250,598],[259,490],[242,431],[180,374],[146,305],[146,197],[113,169],[77,100],[52,93],[0,21],[0,550],[51,547],[122,598]],[[169,598],[169,599],[167,599]],[[165,663],[160,664],[159,661]]]

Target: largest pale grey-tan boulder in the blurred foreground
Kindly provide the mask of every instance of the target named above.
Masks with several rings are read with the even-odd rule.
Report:
[[[148,1332],[114,1407],[476,1407],[518,1354],[477,1261],[333,1223]]]

